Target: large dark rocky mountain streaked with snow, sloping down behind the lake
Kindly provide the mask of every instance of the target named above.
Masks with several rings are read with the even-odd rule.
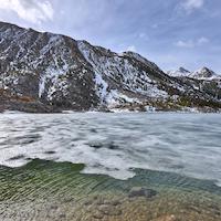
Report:
[[[0,22],[0,110],[221,108],[220,97],[196,84],[134,52]]]

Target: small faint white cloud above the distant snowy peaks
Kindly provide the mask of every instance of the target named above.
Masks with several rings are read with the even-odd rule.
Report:
[[[179,48],[192,49],[194,46],[204,45],[209,42],[210,42],[209,39],[201,36],[197,40],[187,40],[187,41],[179,40],[178,42],[175,43],[175,45]]]

